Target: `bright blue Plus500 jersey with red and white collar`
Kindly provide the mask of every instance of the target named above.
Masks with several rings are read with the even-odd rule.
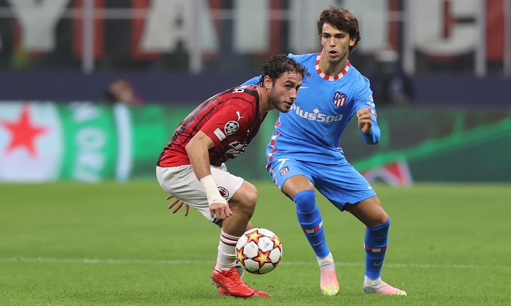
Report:
[[[335,76],[325,75],[319,68],[320,53],[293,55],[311,77],[298,90],[298,96],[288,113],[280,113],[267,147],[268,162],[281,154],[292,154],[294,160],[338,164],[344,159],[339,138],[346,124],[361,108],[373,118],[371,133],[362,134],[368,144],[378,143],[380,128],[369,81],[347,62]],[[255,84],[259,77],[245,84]],[[355,118],[356,120],[356,118]]]

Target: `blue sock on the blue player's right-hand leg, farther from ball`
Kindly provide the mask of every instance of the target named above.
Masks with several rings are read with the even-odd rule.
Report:
[[[389,225],[390,219],[378,226],[367,226],[365,230],[365,275],[369,278],[377,279],[381,275]]]

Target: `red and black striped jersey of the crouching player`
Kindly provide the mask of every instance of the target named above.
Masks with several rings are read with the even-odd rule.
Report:
[[[219,166],[245,151],[266,117],[260,114],[256,85],[235,87],[221,92],[199,105],[179,125],[161,151],[156,165],[189,165],[185,146],[199,131],[213,140],[210,164]]]

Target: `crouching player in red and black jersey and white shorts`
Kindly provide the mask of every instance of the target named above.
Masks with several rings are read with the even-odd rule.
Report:
[[[219,294],[270,296],[249,287],[236,270],[236,243],[253,228],[257,189],[227,172],[224,162],[243,154],[268,111],[290,110],[309,75],[286,55],[270,58],[258,84],[231,88],[204,101],[181,122],[159,155],[156,176],[168,198],[179,199],[179,205],[184,202],[221,227],[211,276]]]

